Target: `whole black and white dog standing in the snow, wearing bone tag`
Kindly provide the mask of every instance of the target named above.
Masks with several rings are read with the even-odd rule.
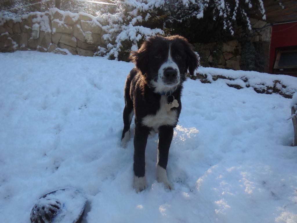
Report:
[[[122,145],[129,141],[130,124],[135,116],[134,188],[147,187],[145,149],[150,131],[159,132],[157,181],[173,189],[167,179],[168,152],[173,128],[181,112],[181,90],[187,70],[193,75],[198,58],[184,37],[155,36],[144,42],[130,59],[135,63],[125,85]]]

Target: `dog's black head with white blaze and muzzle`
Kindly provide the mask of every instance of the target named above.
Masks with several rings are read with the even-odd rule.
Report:
[[[198,67],[198,58],[184,37],[155,36],[130,55],[136,67],[154,87],[154,92],[174,91]]]

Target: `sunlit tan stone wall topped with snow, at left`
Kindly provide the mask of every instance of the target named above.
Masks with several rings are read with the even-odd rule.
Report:
[[[86,13],[50,9],[20,18],[0,18],[0,52],[37,50],[94,56],[106,47],[99,21]]]

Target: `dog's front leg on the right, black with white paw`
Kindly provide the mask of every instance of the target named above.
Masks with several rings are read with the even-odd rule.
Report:
[[[159,127],[159,140],[158,140],[158,157],[157,157],[157,181],[164,183],[168,189],[173,189],[172,183],[167,179],[167,161],[168,153],[173,137],[173,127],[163,125]]]

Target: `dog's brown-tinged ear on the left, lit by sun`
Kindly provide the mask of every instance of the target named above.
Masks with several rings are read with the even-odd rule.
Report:
[[[149,54],[148,48],[150,46],[149,40],[145,41],[138,51],[132,51],[129,60],[135,63],[136,67],[145,74],[148,70]]]

